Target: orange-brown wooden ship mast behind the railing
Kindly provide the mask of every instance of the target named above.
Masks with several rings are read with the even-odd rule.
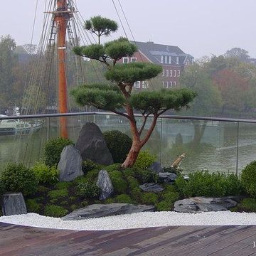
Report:
[[[57,49],[58,49],[58,81],[59,81],[59,111],[68,112],[67,79],[65,72],[65,37],[70,12],[68,11],[67,0],[57,0],[57,11],[55,12],[55,23],[57,26]],[[60,117],[60,135],[68,138],[68,119]]]

